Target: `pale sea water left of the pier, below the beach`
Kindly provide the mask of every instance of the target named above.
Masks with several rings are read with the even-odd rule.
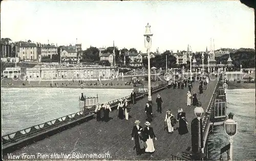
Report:
[[[1,88],[2,135],[78,112],[81,93],[104,103],[131,89]]]

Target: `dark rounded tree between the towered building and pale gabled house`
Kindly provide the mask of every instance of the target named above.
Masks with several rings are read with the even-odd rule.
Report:
[[[96,47],[90,47],[87,50],[83,51],[83,60],[86,62],[95,62],[99,61],[99,50]]]

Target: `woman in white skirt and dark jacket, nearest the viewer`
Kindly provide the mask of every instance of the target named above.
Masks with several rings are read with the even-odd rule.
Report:
[[[155,152],[153,138],[155,138],[155,140],[157,140],[157,137],[154,133],[153,128],[150,127],[150,123],[146,122],[145,125],[146,125],[146,127],[144,128],[144,136],[145,136],[146,145],[147,145],[147,147],[145,149],[145,152],[148,152],[148,153],[152,154],[153,152]]]

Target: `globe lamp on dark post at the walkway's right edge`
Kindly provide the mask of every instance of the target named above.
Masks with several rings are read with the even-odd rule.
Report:
[[[204,109],[202,108],[202,103],[198,102],[197,107],[194,109],[194,113],[197,116],[198,119],[198,152],[196,154],[197,159],[201,159],[205,157],[206,155],[202,153],[202,147],[201,147],[201,117],[204,113]]]

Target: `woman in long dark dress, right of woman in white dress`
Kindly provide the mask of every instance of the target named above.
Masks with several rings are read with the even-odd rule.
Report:
[[[179,134],[183,135],[188,133],[188,129],[187,129],[187,121],[186,121],[186,113],[183,112],[183,109],[179,109],[178,110],[178,116],[177,116],[177,120],[179,121]]]

